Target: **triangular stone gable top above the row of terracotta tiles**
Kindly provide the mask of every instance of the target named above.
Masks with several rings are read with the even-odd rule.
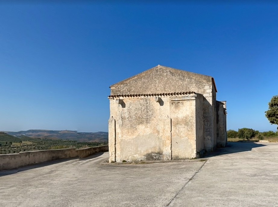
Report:
[[[214,85],[216,90],[214,79],[210,76],[158,65],[115,83],[110,88],[111,95],[173,93],[179,91],[202,93],[208,85],[211,87]]]

